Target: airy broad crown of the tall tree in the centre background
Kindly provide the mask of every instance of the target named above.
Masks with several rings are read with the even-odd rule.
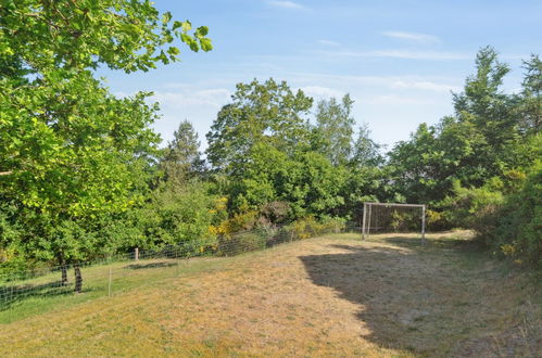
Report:
[[[242,170],[254,144],[268,143],[291,155],[297,146],[308,145],[308,122],[302,116],[312,106],[312,99],[301,90],[293,92],[286,81],[273,78],[260,84],[238,84],[206,138],[207,158],[215,169],[229,172]]]

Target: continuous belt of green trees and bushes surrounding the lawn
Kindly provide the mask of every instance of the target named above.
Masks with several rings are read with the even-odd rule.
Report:
[[[542,265],[538,55],[508,94],[508,66],[481,49],[455,113],[389,153],[367,126],[354,139],[348,94],[317,103],[312,123],[313,99],[286,81],[239,84],[203,156],[189,122],[159,149],[149,93],[117,98],[93,69],[176,61],[176,38],[211,50],[206,27],[147,1],[33,0],[3,2],[0,29],[1,272],[285,223],[303,238],[358,220],[364,201],[427,203],[429,229],[474,229],[496,254]],[[77,291],[81,280],[76,269]]]

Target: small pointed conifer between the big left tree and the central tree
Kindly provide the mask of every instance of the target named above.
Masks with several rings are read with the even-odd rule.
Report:
[[[161,166],[165,171],[166,181],[174,184],[182,184],[191,174],[201,174],[204,169],[198,133],[190,122],[181,122],[174,132],[174,139],[165,150]]]

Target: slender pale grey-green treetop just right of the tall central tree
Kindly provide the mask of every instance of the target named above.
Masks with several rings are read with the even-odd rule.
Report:
[[[333,165],[345,164],[352,154],[353,104],[345,94],[340,103],[331,98],[319,101],[316,107],[316,146]]]

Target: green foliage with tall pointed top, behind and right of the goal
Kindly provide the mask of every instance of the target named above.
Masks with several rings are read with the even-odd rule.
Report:
[[[533,148],[526,145],[518,101],[501,90],[507,65],[483,48],[476,75],[454,94],[455,115],[437,126],[423,124],[409,141],[390,153],[398,190],[411,202],[438,204],[452,192],[454,181],[479,188],[490,178],[528,166]]]

